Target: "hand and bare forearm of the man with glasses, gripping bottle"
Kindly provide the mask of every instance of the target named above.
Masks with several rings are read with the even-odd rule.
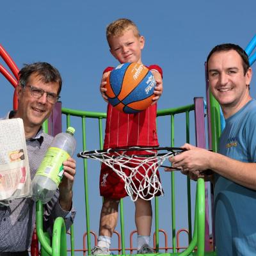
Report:
[[[72,207],[72,187],[76,175],[76,160],[69,157],[63,162],[63,177],[60,182],[60,206],[64,211],[70,211]]]

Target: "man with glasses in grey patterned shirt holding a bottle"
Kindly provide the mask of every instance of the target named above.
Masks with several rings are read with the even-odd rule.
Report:
[[[10,111],[6,118],[22,118],[28,148],[31,179],[44,158],[52,136],[42,131],[43,122],[51,114],[61,91],[61,76],[49,63],[25,65],[19,72],[17,111]],[[54,220],[61,216],[67,229],[72,225],[76,212],[72,209],[72,186],[76,161],[71,157],[63,162],[63,179],[52,200],[44,205],[44,229],[49,231]],[[28,255],[35,228],[35,202],[32,198],[10,200],[0,205],[0,256]]]

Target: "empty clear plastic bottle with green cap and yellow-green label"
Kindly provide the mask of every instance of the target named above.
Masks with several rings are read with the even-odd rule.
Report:
[[[46,204],[54,195],[64,172],[62,163],[74,154],[76,148],[74,132],[73,127],[68,127],[66,132],[54,137],[32,181],[34,201],[41,200]]]

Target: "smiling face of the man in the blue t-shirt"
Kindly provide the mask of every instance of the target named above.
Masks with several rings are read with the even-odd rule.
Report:
[[[248,100],[252,69],[244,74],[241,56],[234,51],[214,52],[208,61],[209,86],[228,116],[241,109]],[[228,116],[225,116],[227,118]]]

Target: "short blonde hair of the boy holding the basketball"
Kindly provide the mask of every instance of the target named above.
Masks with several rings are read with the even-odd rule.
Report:
[[[106,36],[109,44],[109,38],[112,36],[121,36],[124,31],[129,29],[133,30],[134,36],[140,37],[140,32],[138,27],[132,20],[129,19],[118,19],[111,22],[106,29]],[[110,47],[110,45],[109,45]]]

